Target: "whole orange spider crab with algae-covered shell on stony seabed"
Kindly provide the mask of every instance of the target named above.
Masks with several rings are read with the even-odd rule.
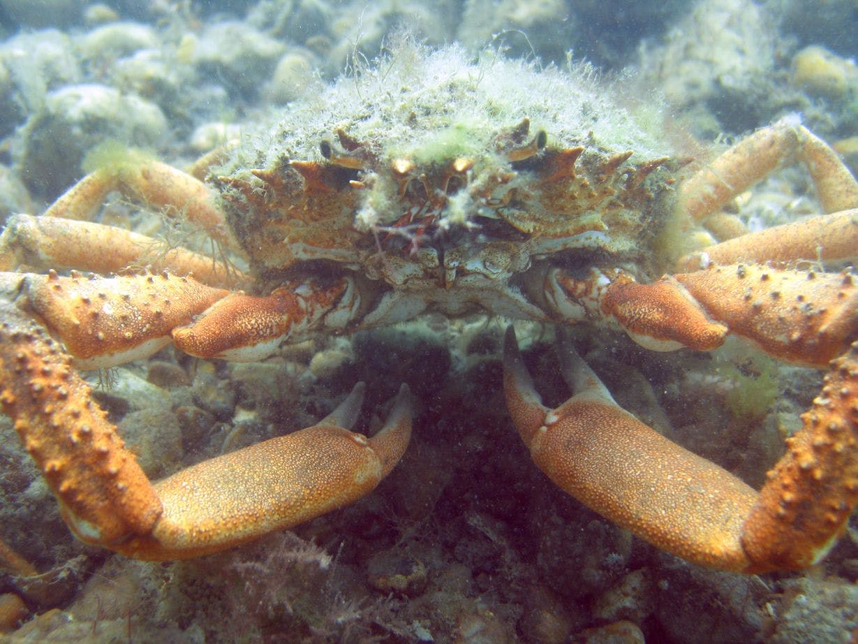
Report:
[[[71,529],[145,559],[225,549],[368,493],[411,423],[403,389],[379,434],[348,431],[358,386],[312,428],[153,484],[76,368],[170,342],[256,361],[311,332],[491,313],[613,325],[655,350],[710,350],[733,333],[829,368],[758,492],[620,409],[571,349],[561,363],[575,394],[554,410],[512,331],[504,349],[513,422],[566,492],[691,562],[753,573],[818,561],[858,500],[858,289],[849,272],[819,268],[855,258],[858,185],[796,118],[694,171],[606,94],[576,68],[402,46],[197,167],[208,184],[145,161],[89,174],[42,216],[13,217],[0,268],[50,270],[3,273],[0,403]],[[792,161],[828,214],[699,252],[665,242],[704,236],[722,205]],[[82,221],[116,190],[196,223],[254,281]],[[126,270],[142,264],[153,270]]]

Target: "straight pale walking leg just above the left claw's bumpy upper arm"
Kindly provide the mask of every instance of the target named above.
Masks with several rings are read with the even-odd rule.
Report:
[[[100,223],[59,217],[13,215],[0,234],[0,270],[32,268],[92,270],[109,273],[131,266],[171,270],[211,286],[234,287],[245,281],[239,271],[214,258],[169,247],[146,235]]]

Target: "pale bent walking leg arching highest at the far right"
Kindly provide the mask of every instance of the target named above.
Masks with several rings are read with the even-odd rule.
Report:
[[[762,128],[728,149],[680,188],[680,209],[702,220],[785,162],[802,161],[825,212],[858,208],[858,182],[824,141],[796,118]]]

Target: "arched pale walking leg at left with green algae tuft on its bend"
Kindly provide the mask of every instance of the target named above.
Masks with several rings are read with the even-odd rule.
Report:
[[[182,216],[202,228],[215,241],[240,251],[217,204],[215,191],[199,179],[160,161],[120,164],[89,173],[57,198],[43,216],[90,219],[111,191]]]

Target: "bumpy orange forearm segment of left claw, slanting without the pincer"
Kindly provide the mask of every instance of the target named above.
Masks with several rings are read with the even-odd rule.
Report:
[[[151,532],[158,496],[68,355],[15,304],[0,316],[0,404],[69,525],[104,544]]]

